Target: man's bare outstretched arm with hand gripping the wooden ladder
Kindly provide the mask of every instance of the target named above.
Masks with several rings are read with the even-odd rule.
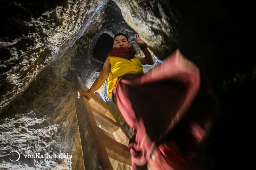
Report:
[[[95,80],[91,88],[88,91],[78,90],[77,98],[79,99],[80,97],[85,96],[88,100],[90,100],[91,95],[102,86],[102,84],[108,77],[109,72],[110,72],[110,61],[109,61],[109,58],[107,58],[106,61],[104,62],[104,66],[99,77]]]

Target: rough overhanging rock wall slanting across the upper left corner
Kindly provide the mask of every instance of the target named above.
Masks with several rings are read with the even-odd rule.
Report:
[[[38,8],[44,11],[39,18],[33,18],[37,15],[33,16],[32,12],[27,12],[30,16],[28,18],[22,18],[19,12],[15,13],[17,16],[13,16],[14,21],[9,21],[17,26],[12,28],[13,31],[23,28],[25,31],[19,31],[21,33],[17,33],[17,37],[1,37],[1,113],[9,103],[20,97],[39,72],[62,57],[87,28],[96,22],[95,19],[103,13],[107,1],[60,1],[63,6],[56,6],[56,2],[53,1],[55,8],[51,8],[51,5],[44,8],[39,3]],[[3,1],[1,7],[3,11],[18,8],[25,13],[29,11],[26,6],[33,7],[37,3]]]

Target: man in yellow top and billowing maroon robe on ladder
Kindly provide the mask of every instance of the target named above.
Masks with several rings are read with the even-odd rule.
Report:
[[[132,170],[197,170],[191,161],[211,130],[218,101],[206,76],[179,50],[147,73],[154,61],[139,35],[136,56],[126,35],[115,35],[102,72],[88,91],[88,100],[108,78],[108,97],[115,102],[134,135],[129,141]]]

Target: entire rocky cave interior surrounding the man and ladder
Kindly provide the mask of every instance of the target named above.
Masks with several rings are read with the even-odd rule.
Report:
[[[120,32],[128,35],[139,55],[136,33],[161,60],[180,48],[206,72],[221,108],[195,161],[205,170],[247,167],[243,155],[251,149],[253,119],[248,117],[255,112],[256,95],[250,3],[2,0],[0,9],[1,168],[83,169],[72,79],[79,75],[90,87],[105,57],[93,51],[109,51],[111,45],[104,43],[111,44],[109,37]],[[97,42],[101,36],[108,42]],[[109,101],[106,84],[98,92]],[[76,157],[51,164],[27,159],[13,163],[8,159],[11,150],[68,152]]]

